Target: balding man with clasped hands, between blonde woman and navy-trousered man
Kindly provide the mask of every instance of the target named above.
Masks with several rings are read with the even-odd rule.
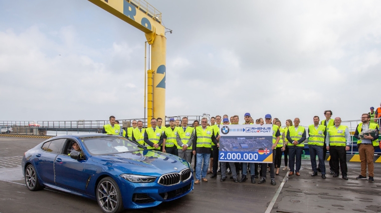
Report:
[[[288,175],[293,175],[294,172],[296,176],[299,176],[299,170],[302,165],[302,152],[304,148],[303,141],[306,140],[306,131],[303,126],[299,126],[300,119],[294,119],[294,126],[288,127],[287,131],[287,142],[288,142],[288,166],[290,167],[290,173]],[[294,169],[296,158],[296,168]]]

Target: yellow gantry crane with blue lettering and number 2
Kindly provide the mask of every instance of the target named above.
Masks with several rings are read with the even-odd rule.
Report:
[[[146,77],[147,124],[150,126],[149,121],[153,117],[165,119],[166,38],[165,27],[161,24],[161,13],[144,0],[88,1],[144,32],[152,47],[151,69],[147,70]]]

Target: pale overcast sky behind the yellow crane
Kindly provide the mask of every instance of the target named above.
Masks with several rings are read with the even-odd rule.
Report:
[[[381,101],[380,1],[158,1],[166,116],[359,119]],[[85,0],[0,1],[0,120],[144,115],[144,33]]]

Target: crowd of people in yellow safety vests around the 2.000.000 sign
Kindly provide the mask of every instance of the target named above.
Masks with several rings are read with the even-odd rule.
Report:
[[[142,121],[132,121],[132,127],[127,131],[120,128],[114,116],[110,116],[110,124],[103,127],[102,133],[117,134],[131,139],[147,149],[155,149],[162,152],[177,155],[187,162],[192,162],[195,158],[196,180],[195,184],[201,181],[207,182],[206,178],[210,159],[213,159],[213,169],[211,178],[217,177],[217,172],[221,170],[220,181],[227,178],[227,168],[230,167],[234,182],[244,182],[247,178],[248,167],[250,168],[251,182],[256,183],[256,178],[260,178],[258,183],[266,182],[267,168],[269,168],[271,184],[276,185],[275,175],[279,174],[281,167],[282,154],[284,154],[285,167],[283,170],[289,170],[289,175],[300,175],[301,156],[304,149],[304,141],[308,138],[308,147],[310,151],[310,160],[313,173],[311,176],[317,176],[321,173],[321,178],[326,178],[325,158],[327,150],[330,152],[330,174],[338,177],[341,171],[342,179],[347,180],[346,151],[350,149],[351,138],[347,126],[341,125],[341,118],[331,118],[332,111],[324,111],[325,119],[320,121],[319,116],[313,117],[313,124],[308,126],[308,137],[304,126],[300,126],[300,119],[294,121],[286,120],[285,127],[282,127],[281,121],[277,118],[272,119],[270,114],[265,115],[265,119],[256,119],[255,124],[272,124],[272,163],[237,163],[237,162],[219,162],[219,141],[220,125],[239,124],[239,116],[234,115],[228,119],[228,115],[221,117],[217,115],[210,119],[207,118],[193,122],[193,127],[188,126],[187,117],[183,117],[181,125],[175,119],[169,119],[169,126],[162,125],[161,118],[152,118],[151,127],[143,128]],[[254,119],[250,113],[244,115],[245,122],[242,124],[254,124]],[[366,178],[366,168],[368,169],[368,181],[373,182],[373,155],[374,148],[378,143],[378,124],[370,122],[370,113],[364,113],[361,116],[361,123],[356,127],[354,137],[357,138],[357,147],[361,160],[361,173],[356,179]],[[178,125],[177,125],[178,124]],[[366,134],[368,130],[373,134]],[[211,158],[211,156],[214,158]],[[316,163],[318,157],[318,164]],[[204,162],[204,163],[203,163]],[[287,167],[287,164],[289,167]],[[258,167],[261,165],[261,171]],[[241,171],[242,170],[242,171]],[[238,178],[242,172],[241,178]]]

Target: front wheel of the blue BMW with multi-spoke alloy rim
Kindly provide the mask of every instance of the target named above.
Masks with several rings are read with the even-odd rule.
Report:
[[[122,195],[118,184],[111,177],[105,177],[99,181],[96,197],[99,207],[105,213],[117,213],[123,209]]]

